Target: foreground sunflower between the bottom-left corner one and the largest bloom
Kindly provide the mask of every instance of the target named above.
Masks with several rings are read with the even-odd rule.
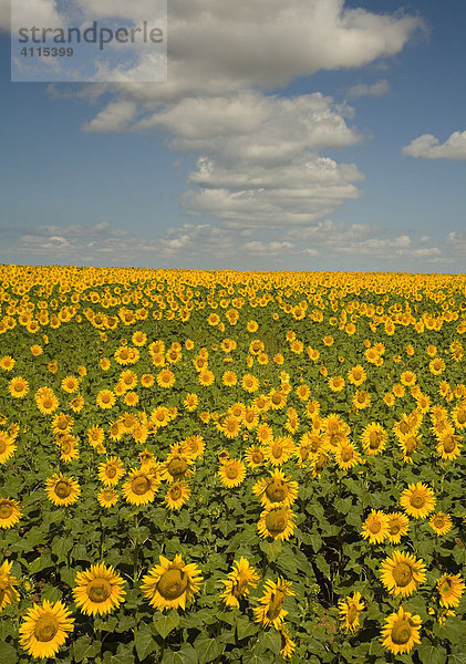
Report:
[[[73,598],[85,615],[104,615],[117,609],[126,594],[124,581],[112,566],[91,564],[89,570],[77,572],[72,590]]]

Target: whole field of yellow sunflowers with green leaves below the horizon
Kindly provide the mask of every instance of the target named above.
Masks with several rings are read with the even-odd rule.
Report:
[[[466,276],[0,266],[0,663],[466,663]]]

